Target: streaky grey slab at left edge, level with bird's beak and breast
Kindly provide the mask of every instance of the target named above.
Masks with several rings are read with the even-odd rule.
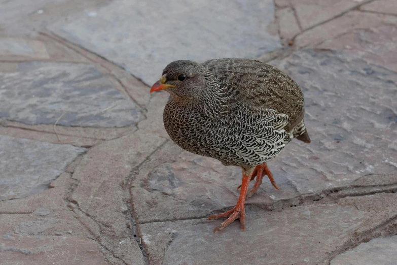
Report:
[[[62,116],[62,114],[64,114]],[[0,73],[0,117],[27,124],[122,127],[140,119],[139,108],[93,65],[20,63]]]

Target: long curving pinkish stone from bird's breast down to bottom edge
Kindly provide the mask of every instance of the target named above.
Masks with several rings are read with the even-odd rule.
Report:
[[[101,244],[128,264],[145,264],[133,237],[128,203],[140,198],[129,197],[129,179],[135,169],[166,140],[162,124],[167,94],[151,97],[147,119],[138,130],[118,139],[92,147],[74,169],[77,182],[68,196],[70,207],[95,220]],[[78,217],[81,218],[81,217]]]

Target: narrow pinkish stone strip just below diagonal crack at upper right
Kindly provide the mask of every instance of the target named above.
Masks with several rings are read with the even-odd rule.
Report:
[[[346,1],[347,2],[347,1]],[[296,48],[313,46],[339,37],[358,28],[370,28],[382,24],[397,24],[397,17],[391,15],[351,11],[320,26],[303,32],[295,39]]]

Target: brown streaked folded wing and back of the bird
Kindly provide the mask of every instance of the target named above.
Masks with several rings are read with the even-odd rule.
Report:
[[[250,109],[269,109],[288,116],[285,130],[295,127],[304,115],[303,93],[290,77],[258,60],[225,58],[202,65],[218,77],[228,104],[243,103]],[[277,125],[276,125],[277,126]]]

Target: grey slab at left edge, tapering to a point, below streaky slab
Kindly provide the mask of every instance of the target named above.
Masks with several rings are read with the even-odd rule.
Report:
[[[45,190],[85,148],[0,136],[0,200]]]

